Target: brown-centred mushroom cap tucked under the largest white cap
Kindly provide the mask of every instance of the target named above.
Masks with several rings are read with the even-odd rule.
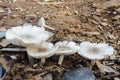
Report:
[[[43,42],[39,47],[27,47],[28,55],[36,59],[50,57],[54,55],[56,50],[57,47],[54,47],[54,45],[49,42]]]

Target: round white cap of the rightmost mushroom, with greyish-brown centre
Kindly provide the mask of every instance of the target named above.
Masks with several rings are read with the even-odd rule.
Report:
[[[105,43],[82,42],[78,53],[91,60],[101,60],[114,53],[113,47]]]

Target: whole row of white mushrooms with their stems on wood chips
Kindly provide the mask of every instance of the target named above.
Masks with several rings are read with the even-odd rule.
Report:
[[[114,49],[105,43],[82,42],[80,45],[73,41],[58,41],[52,44],[47,40],[53,33],[46,31],[46,28],[55,30],[45,24],[44,18],[39,19],[38,26],[24,24],[23,26],[12,27],[6,32],[6,39],[14,44],[26,47],[28,59],[31,64],[33,58],[41,58],[41,63],[45,63],[45,58],[54,54],[60,55],[58,64],[61,65],[65,55],[78,53],[81,56],[91,60],[101,60],[111,56]]]

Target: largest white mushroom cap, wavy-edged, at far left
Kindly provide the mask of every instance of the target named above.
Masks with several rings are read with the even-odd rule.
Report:
[[[44,28],[29,24],[8,29],[6,39],[12,44],[26,47],[46,41],[52,35],[51,32],[45,31]]]

